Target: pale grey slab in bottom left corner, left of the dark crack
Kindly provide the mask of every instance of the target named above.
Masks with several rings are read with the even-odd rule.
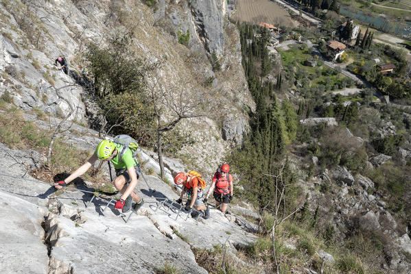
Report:
[[[0,273],[47,273],[38,206],[0,190]]]

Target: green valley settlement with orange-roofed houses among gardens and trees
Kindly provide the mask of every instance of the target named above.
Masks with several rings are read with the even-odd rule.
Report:
[[[272,58],[281,55],[285,71],[295,70],[287,69],[290,64],[305,71],[298,73],[301,79],[296,77],[294,86],[289,86],[291,90],[298,92],[299,88],[325,86],[326,92],[353,95],[364,88],[375,88],[373,93],[377,97],[404,97],[406,87],[398,84],[406,73],[403,52],[374,43],[373,32],[367,28],[362,34],[359,25],[355,25],[351,18],[346,20],[334,29],[324,24],[314,31],[305,27],[281,28],[266,22],[259,26],[270,32],[268,50]],[[396,64],[401,68],[397,69]],[[328,69],[334,72],[329,73]],[[309,77],[314,74],[324,75],[325,79],[318,81]],[[401,91],[397,90],[398,86]]]

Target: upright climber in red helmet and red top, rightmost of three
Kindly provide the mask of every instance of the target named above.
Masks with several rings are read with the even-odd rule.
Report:
[[[214,173],[213,182],[204,199],[204,203],[207,203],[207,199],[209,199],[211,192],[214,190],[215,207],[221,205],[220,210],[224,213],[228,213],[228,203],[233,199],[233,177],[228,173],[229,171],[230,166],[222,164],[220,169]]]

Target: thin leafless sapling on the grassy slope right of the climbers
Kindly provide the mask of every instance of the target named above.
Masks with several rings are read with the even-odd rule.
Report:
[[[281,271],[281,256],[277,255],[277,235],[276,235],[276,229],[277,227],[283,223],[283,221],[287,220],[295,214],[300,208],[297,208],[293,212],[287,214],[287,203],[285,202],[285,192],[288,187],[290,187],[291,184],[287,184],[285,180],[283,179],[283,170],[284,170],[285,164],[281,166],[281,169],[279,170],[277,175],[271,175],[271,174],[264,174],[270,177],[274,178],[274,181],[272,184],[274,184],[275,188],[275,195],[274,195],[274,222],[272,223],[271,227],[271,235],[272,235],[272,255],[274,256],[274,266],[277,271],[277,274],[280,273]]]

